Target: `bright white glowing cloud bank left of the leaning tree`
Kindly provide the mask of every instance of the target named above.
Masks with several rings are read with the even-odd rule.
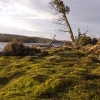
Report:
[[[44,0],[41,0],[40,4],[42,1]],[[53,16],[49,12],[40,10],[35,6],[36,3],[36,0],[34,2],[30,0],[24,2],[23,0],[17,0],[17,2],[16,0],[12,2],[1,0],[0,24],[5,27],[35,32],[43,32],[43,30],[49,29],[46,25],[43,25],[43,21],[45,23],[47,20],[51,20]],[[34,4],[33,8],[30,7],[31,4]]]

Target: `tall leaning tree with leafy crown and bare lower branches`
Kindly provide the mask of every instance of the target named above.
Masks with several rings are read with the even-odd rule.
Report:
[[[78,29],[78,36],[75,38],[73,31],[71,29],[71,26],[69,24],[69,21],[67,19],[67,14],[70,11],[70,7],[65,6],[64,2],[62,0],[51,0],[49,3],[50,7],[54,9],[54,14],[58,15],[58,19],[55,19],[54,23],[63,25],[63,29],[59,29],[60,32],[68,32],[72,41],[72,44],[75,45],[76,41],[78,42],[81,35],[86,34],[88,31],[86,31],[84,34],[81,34],[80,29]]]

